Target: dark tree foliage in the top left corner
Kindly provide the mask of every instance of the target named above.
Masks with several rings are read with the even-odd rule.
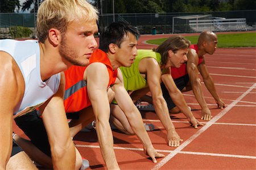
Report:
[[[19,0],[0,0],[0,13],[14,13],[19,8]]]

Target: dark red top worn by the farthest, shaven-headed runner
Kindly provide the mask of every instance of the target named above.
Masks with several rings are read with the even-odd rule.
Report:
[[[192,44],[189,46],[189,48],[195,49],[196,53],[198,53],[197,44]],[[203,56],[199,56],[198,65],[201,64],[202,62],[203,62]],[[179,77],[185,76],[186,74],[188,74],[187,64],[182,64],[180,68],[171,67],[171,75],[172,75],[172,78],[174,78],[174,80]]]

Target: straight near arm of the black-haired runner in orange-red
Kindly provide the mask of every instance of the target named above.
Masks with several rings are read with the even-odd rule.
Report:
[[[113,134],[109,125],[108,70],[102,63],[93,63],[86,68],[84,77],[96,119],[96,131],[102,157],[108,169],[119,169],[113,149]]]

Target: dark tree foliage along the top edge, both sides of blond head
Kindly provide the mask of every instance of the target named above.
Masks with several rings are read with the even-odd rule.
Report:
[[[19,9],[19,0],[0,0],[1,13],[13,13]],[[37,12],[44,0],[26,0],[22,10]],[[255,0],[90,0],[102,14],[113,13],[195,13],[202,11],[255,10]],[[102,8],[101,3],[102,2]],[[35,5],[34,5],[35,3]]]

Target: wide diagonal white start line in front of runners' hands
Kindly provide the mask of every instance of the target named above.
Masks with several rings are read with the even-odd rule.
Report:
[[[256,86],[256,83],[251,86],[248,90],[246,90],[245,93],[243,93],[240,97],[238,97],[236,99],[236,101],[232,102],[229,106],[225,107],[224,110],[222,110],[219,114],[217,114],[215,117],[213,117],[212,119],[210,119],[209,122],[207,122],[203,127],[200,128],[199,131],[197,131],[194,135],[192,135],[188,140],[186,140],[185,142],[183,142],[179,147],[177,147],[173,152],[171,152],[171,154],[167,155],[166,157],[164,157],[164,159],[162,159],[158,164],[155,165],[154,170],[161,168],[164,164],[166,164],[169,160],[172,159],[172,157],[174,157],[176,154],[178,154],[181,150],[183,150],[186,146],[188,146],[188,144],[190,144],[194,139],[196,139],[199,135],[201,135],[204,131],[206,131],[210,126],[213,125],[213,123],[217,122],[218,119],[220,119],[221,117],[223,117],[226,113],[228,113],[228,111],[230,109],[232,109],[232,107],[234,107],[234,105],[236,105],[238,103],[238,101],[240,101],[243,97],[245,97],[251,90],[253,90]]]

